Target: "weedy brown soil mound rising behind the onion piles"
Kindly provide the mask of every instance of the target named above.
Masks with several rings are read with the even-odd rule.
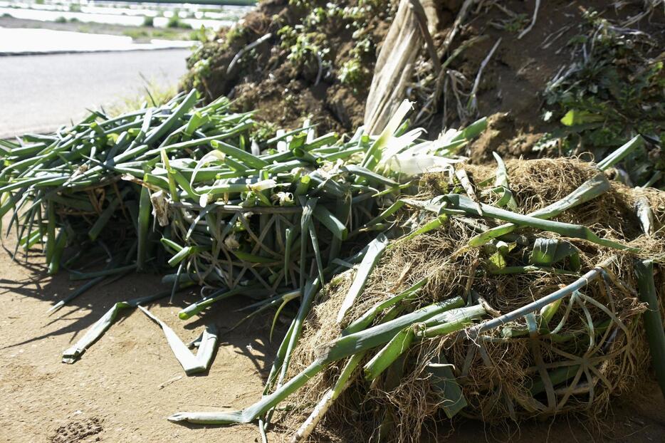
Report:
[[[264,1],[189,58],[185,85],[256,109],[265,123],[259,136],[308,118],[320,133],[350,131],[363,122],[397,3]],[[492,151],[526,158],[589,152],[599,160],[639,133],[649,143],[624,163],[625,176],[659,183],[661,2],[557,0],[536,10],[518,0],[421,4],[444,69],[436,75],[431,51],[420,48],[406,90],[417,111],[412,125],[434,138],[488,117],[488,132],[466,151],[474,162],[491,160]]]

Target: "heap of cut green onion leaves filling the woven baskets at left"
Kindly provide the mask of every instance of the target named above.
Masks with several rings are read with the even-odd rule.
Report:
[[[182,319],[238,294],[257,301],[256,312],[295,298],[308,306],[306,283],[319,287],[362,260],[389,227],[382,210],[422,172],[450,168],[486,127],[482,119],[421,140],[404,121],[410,108],[402,103],[378,136],[362,127],[317,135],[305,122],[263,141],[251,137],[252,113],[234,113],[226,98],[199,105],[195,90],[122,115],[95,111],[52,134],[0,141],[0,216],[11,214],[15,255],[41,245],[49,273],[83,282],[51,313],[147,270],[166,274],[172,297],[204,286]]]

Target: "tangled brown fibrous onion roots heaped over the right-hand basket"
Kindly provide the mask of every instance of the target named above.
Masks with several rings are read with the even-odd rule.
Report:
[[[507,162],[507,166],[510,189],[524,214],[561,199],[597,174],[592,165],[577,159],[514,160]],[[491,167],[466,165],[464,168],[476,183],[494,174]],[[424,177],[421,196],[445,192],[447,182],[448,177],[441,174]],[[557,325],[570,308],[556,340],[530,338],[528,332],[515,334],[515,330],[526,329],[524,319],[510,324],[512,336],[498,329],[475,341],[468,340],[464,331],[423,340],[412,346],[399,368],[390,368],[371,385],[362,379],[359,371],[318,425],[313,439],[359,441],[362,434],[363,441],[374,441],[380,433],[387,432],[381,435],[382,441],[415,442],[424,432],[434,432],[446,415],[441,397],[431,387],[427,365],[440,353],[444,353],[454,368],[456,382],[468,402],[460,415],[502,422],[568,412],[587,412],[588,417],[595,417],[606,411],[611,397],[634,387],[647,366],[648,349],[639,316],[645,306],[635,291],[633,261],[638,257],[664,256],[665,236],[662,229],[651,236],[642,235],[634,211],[641,198],[649,202],[656,225],[663,226],[664,193],[632,189],[614,182],[600,197],[556,218],[560,222],[583,224],[607,239],[640,249],[638,254],[617,252],[587,241],[566,239],[580,250],[582,269],[592,269],[611,255],[617,258],[607,267],[604,278],[564,299],[550,321]],[[533,231],[520,233],[533,234]],[[429,283],[412,302],[413,309],[473,291],[501,313],[538,300],[577,279],[577,276],[545,272],[485,273],[481,266],[486,258],[483,250],[462,249],[474,234],[468,224],[451,217],[440,229],[394,244],[372,273],[347,318],[358,318],[371,306],[425,277]],[[551,233],[538,235],[557,238]],[[656,266],[656,288],[661,298],[665,296],[663,271],[662,266]],[[340,335],[341,328],[335,318],[353,275],[353,270],[342,273],[321,291],[293,355],[290,375],[303,370],[315,360],[323,344]],[[332,365],[305,385],[295,407],[283,415],[282,426],[295,429],[303,422],[312,405],[332,386],[344,363]],[[545,373],[551,378],[557,370],[566,372],[565,368],[570,373],[562,380],[537,389],[538,380]],[[351,434],[345,435],[347,432]]]

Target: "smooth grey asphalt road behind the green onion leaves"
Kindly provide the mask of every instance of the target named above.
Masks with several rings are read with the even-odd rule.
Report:
[[[122,103],[142,91],[141,74],[177,85],[189,50],[0,57],[0,137],[46,132],[78,120],[86,108]]]

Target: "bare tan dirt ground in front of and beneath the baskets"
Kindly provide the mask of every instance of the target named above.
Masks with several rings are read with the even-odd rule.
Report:
[[[13,239],[5,246],[13,245]],[[177,311],[197,298],[182,293],[173,305],[164,299],[150,307],[192,340],[204,324],[220,329],[221,345],[209,373],[184,375],[162,330],[139,311],[127,310],[117,323],[73,365],[61,353],[112,303],[163,290],[157,276],[133,275],[100,286],[48,317],[46,310],[73,282],[66,273],[46,276],[43,257],[11,261],[0,251],[0,441],[1,442],[256,442],[253,424],[235,427],[185,427],[167,422],[179,410],[216,410],[250,405],[261,395],[273,353],[268,318],[228,328],[242,313],[242,300],[229,300],[211,313],[187,322]],[[278,335],[278,334],[276,334]],[[636,393],[638,401],[617,401],[602,420],[602,434],[589,422],[567,417],[520,427],[491,428],[461,422],[441,424],[436,441],[449,442],[661,442],[665,439],[665,401],[654,382]],[[447,436],[447,437],[444,437]],[[286,436],[275,434],[272,441]]]

